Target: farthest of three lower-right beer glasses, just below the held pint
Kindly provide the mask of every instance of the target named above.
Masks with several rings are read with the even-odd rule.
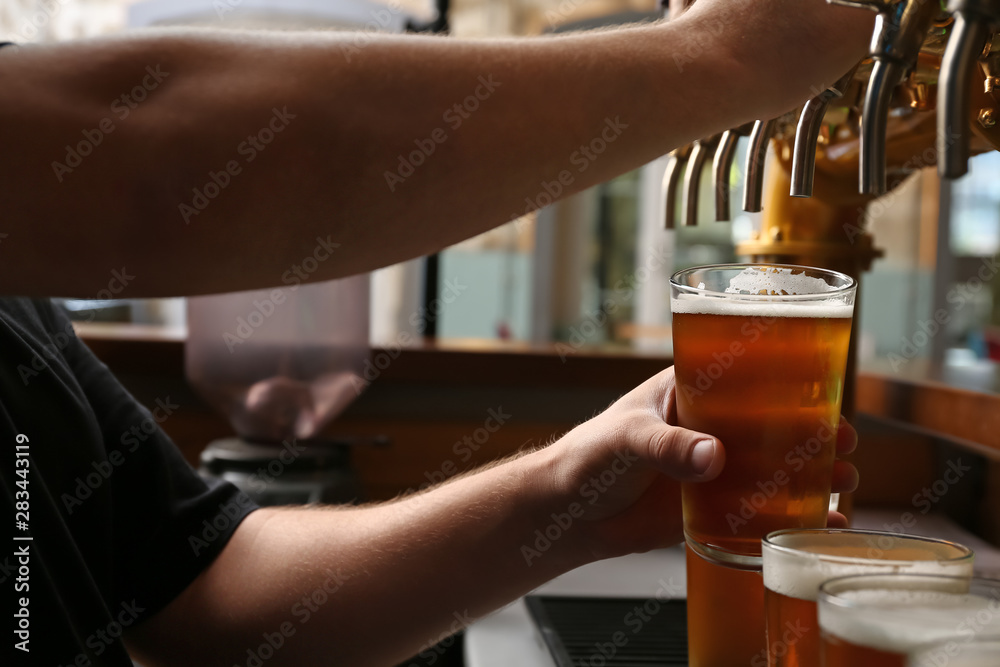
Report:
[[[968,547],[869,530],[779,530],[764,538],[767,663],[820,664],[816,596],[820,585],[854,574],[907,572],[972,576]]]

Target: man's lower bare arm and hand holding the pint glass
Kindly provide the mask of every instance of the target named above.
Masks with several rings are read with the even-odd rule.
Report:
[[[397,502],[254,512],[129,648],[150,667],[279,643],[268,667],[385,667],[575,566],[677,544],[676,480],[714,478],[725,453],[671,426],[674,392],[668,369],[546,449]],[[856,442],[842,422],[838,451]],[[838,462],[834,490],[856,485]]]

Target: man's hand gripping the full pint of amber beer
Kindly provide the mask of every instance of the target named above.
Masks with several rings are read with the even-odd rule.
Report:
[[[568,433],[549,453],[559,461],[555,488],[586,508],[585,548],[593,558],[606,558],[680,542],[679,482],[718,476],[726,458],[723,445],[711,435],[677,426],[674,370],[669,368]],[[857,433],[841,419],[837,453],[848,454],[856,445]],[[834,493],[852,491],[857,482],[853,465],[835,462]],[[831,512],[829,523],[847,522]]]

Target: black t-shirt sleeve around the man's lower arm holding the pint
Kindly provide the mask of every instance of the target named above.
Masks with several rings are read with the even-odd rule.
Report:
[[[37,306],[51,330],[72,330],[61,310]],[[256,506],[232,484],[199,476],[160,428],[183,406],[164,395],[152,412],[143,407],[75,336],[63,356],[96,417],[104,470],[111,470],[111,606],[134,599],[145,617],[179,595]]]

